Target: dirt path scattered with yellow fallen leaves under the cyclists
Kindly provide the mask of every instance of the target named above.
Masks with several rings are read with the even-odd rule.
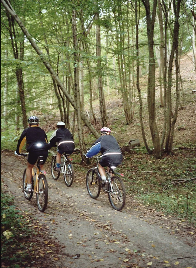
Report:
[[[50,267],[196,267],[194,238],[162,228],[164,219],[162,226],[141,219],[139,210],[113,210],[103,192],[97,200],[91,199],[85,181],[67,187],[62,177],[54,181],[48,170],[48,207],[40,213],[35,196],[27,201],[21,191],[24,168],[24,159],[2,153],[1,180],[16,206],[35,215],[43,231],[65,246]]]

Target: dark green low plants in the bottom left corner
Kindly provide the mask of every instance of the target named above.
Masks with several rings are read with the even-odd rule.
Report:
[[[31,233],[20,210],[13,205],[13,198],[1,190],[1,262],[6,267],[20,267],[28,258],[24,240]]]

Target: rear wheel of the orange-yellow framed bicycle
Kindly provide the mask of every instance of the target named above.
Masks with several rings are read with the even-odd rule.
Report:
[[[39,175],[36,200],[38,209],[43,212],[48,203],[48,183],[44,174]]]

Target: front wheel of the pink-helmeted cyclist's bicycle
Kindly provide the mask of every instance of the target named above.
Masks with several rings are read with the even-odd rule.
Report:
[[[96,199],[101,191],[101,182],[99,177],[97,176],[97,173],[95,172],[95,169],[91,168],[87,172],[87,178],[86,178],[86,184],[87,184],[87,191],[91,198]],[[94,190],[94,194],[93,194]]]

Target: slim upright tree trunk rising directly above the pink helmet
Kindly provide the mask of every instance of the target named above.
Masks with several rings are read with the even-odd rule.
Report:
[[[107,112],[106,112],[105,98],[103,93],[103,82],[102,82],[101,36],[100,36],[100,25],[99,25],[99,13],[96,14],[95,21],[96,21],[96,56],[97,56],[97,70],[98,70],[99,107],[101,113],[102,127],[107,127]]]

